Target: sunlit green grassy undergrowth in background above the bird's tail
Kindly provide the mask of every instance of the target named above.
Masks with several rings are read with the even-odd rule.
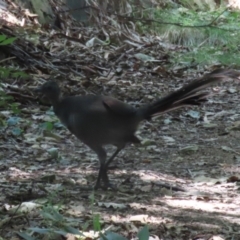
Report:
[[[138,17],[138,13],[135,14]],[[139,31],[160,35],[164,43],[178,45],[169,52],[172,65],[188,66],[240,64],[240,14],[237,10],[219,7],[214,10],[196,10],[180,5],[169,8],[148,8],[138,20]],[[152,21],[145,21],[145,18]],[[150,27],[149,27],[150,25]]]

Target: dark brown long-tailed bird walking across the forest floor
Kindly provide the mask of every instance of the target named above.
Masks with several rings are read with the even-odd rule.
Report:
[[[215,70],[139,109],[107,96],[61,98],[60,88],[54,81],[44,83],[36,91],[49,99],[54,113],[69,131],[98,155],[100,169],[95,184],[97,189],[101,186],[101,181],[105,188],[111,186],[107,175],[108,166],[126,144],[140,143],[135,132],[143,120],[151,120],[153,116],[180,107],[200,105],[208,96],[202,89],[226,78],[238,76],[239,73],[234,70]],[[117,149],[107,160],[104,146],[108,144],[115,145]]]

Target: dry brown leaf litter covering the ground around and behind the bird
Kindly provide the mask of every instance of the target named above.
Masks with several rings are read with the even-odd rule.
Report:
[[[26,21],[33,25],[30,18]],[[92,197],[79,186],[96,179],[96,156],[32,90],[43,79],[55,78],[64,86],[64,95],[112,95],[138,107],[214,66],[186,72],[181,65],[169,68],[167,52],[180,46],[164,45],[157,37],[143,37],[120,24],[109,30],[86,28],[67,18],[66,25],[71,25],[68,35],[44,29],[38,33],[42,44],[19,37],[8,48],[32,78],[10,78],[2,84],[20,103],[20,113],[10,104],[0,112],[0,235],[18,239],[15,232],[29,227],[44,231],[50,218],[59,231],[72,226],[92,239],[92,216],[99,214],[101,229],[112,231],[110,239],[118,237],[113,232],[133,238],[145,225],[149,239],[240,238],[239,87],[228,86],[201,107],[142,124],[142,144],[124,149],[109,171],[119,191],[100,190]],[[74,36],[74,27],[80,29],[80,38]],[[0,31],[18,36],[4,25]],[[108,40],[109,33],[116,46],[100,39],[104,34]],[[58,206],[64,218],[54,211],[42,214],[46,205]],[[66,225],[59,225],[59,219]]]

